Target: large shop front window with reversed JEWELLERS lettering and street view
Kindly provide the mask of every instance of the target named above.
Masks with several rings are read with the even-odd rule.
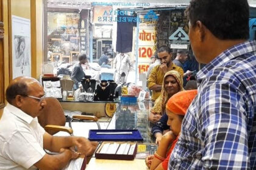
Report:
[[[186,7],[171,3],[68,4],[68,1],[48,0],[44,64],[54,65],[57,75],[63,67],[69,70],[66,73],[71,73],[79,62],[79,53],[85,53],[88,58],[83,66],[85,75],[101,81],[101,74],[108,73],[113,75],[108,78],[114,81],[134,83],[144,89],[146,76],[143,75],[154,63],[158,47],[168,46],[173,53],[172,60],[178,50],[187,50],[185,69],[194,72],[199,66],[190,49]],[[119,60],[121,53],[126,58]],[[127,66],[123,67],[124,63]]]

